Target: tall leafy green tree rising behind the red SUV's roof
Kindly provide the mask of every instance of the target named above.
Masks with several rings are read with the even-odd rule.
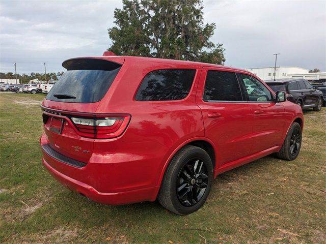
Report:
[[[212,43],[215,23],[204,23],[201,0],[123,0],[108,29],[118,55],[223,64],[223,45]]]

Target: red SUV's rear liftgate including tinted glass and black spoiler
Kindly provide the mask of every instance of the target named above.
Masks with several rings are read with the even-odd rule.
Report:
[[[96,114],[121,66],[97,58],[74,58],[63,63],[67,71],[42,103],[47,146],[69,158],[88,162],[94,140],[110,138],[107,134],[123,122],[119,116]]]

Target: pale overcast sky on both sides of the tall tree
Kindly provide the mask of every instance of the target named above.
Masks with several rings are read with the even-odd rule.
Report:
[[[214,43],[225,65],[298,66],[326,71],[326,0],[204,1],[205,22],[215,22]],[[0,0],[0,72],[64,71],[70,57],[98,56],[110,45],[121,1]]]

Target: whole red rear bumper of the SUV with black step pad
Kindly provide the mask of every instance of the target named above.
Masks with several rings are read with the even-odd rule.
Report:
[[[117,150],[107,155],[93,150],[87,162],[80,162],[51,149],[48,143],[43,133],[40,140],[43,165],[70,190],[104,204],[155,201],[159,187],[153,184],[155,178],[150,177],[156,175],[152,158],[148,162]]]

